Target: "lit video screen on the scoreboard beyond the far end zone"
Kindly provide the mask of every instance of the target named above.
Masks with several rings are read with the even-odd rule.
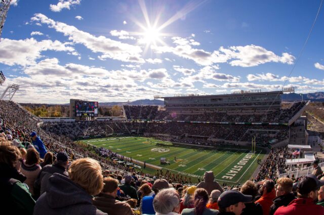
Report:
[[[75,101],[75,117],[98,117],[98,101]]]

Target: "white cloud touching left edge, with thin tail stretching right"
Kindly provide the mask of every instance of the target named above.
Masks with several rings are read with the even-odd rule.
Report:
[[[70,43],[62,43],[58,40],[36,41],[34,38],[24,40],[12,40],[4,38],[0,41],[0,63],[13,66],[27,66],[35,64],[41,58],[41,52],[46,50],[74,51],[68,46]]]

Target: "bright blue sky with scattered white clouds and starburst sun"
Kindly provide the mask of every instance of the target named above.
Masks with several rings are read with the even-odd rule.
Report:
[[[15,83],[14,101],[68,103],[324,91],[321,1],[13,0],[0,93]]]

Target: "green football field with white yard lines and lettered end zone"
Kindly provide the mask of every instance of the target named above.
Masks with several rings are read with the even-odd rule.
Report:
[[[206,171],[213,171],[220,183],[228,185],[244,183],[251,179],[258,167],[257,159],[262,159],[265,151],[262,149],[251,153],[248,148],[203,147],[185,145],[145,137],[112,137],[83,140],[97,147],[104,147],[113,152],[132,157],[132,159],[154,165],[142,170],[155,173],[163,168],[171,172],[184,174],[196,182]],[[160,158],[165,157],[170,165],[160,165]],[[156,168],[154,168],[156,167]]]

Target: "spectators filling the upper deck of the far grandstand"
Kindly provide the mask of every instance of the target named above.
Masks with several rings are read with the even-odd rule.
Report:
[[[157,105],[124,105],[128,120],[169,120],[196,122],[235,122],[235,123],[287,123],[297,114],[306,101],[294,103],[289,109],[269,110],[214,110],[158,111]]]

